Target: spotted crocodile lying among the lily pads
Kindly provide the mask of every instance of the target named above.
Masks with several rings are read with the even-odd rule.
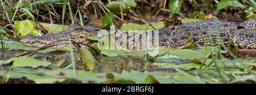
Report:
[[[220,10],[218,18],[215,19],[183,23],[142,33],[121,31],[117,32],[114,38],[118,40],[118,46],[129,50],[146,49],[147,46],[182,48],[189,42],[197,46],[222,43],[229,48],[256,49],[256,21],[245,20],[245,11],[241,10],[241,8],[228,7]],[[96,36],[98,31],[101,29],[73,25],[63,32],[49,36],[24,36],[20,38],[20,42],[24,45],[39,47],[51,41],[71,38],[73,41],[92,44],[93,41],[88,37]],[[63,46],[67,45],[57,47]]]

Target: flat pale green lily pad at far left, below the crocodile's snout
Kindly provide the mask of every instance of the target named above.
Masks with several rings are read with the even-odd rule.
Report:
[[[10,62],[13,62],[13,67],[34,67],[35,68],[39,66],[47,67],[51,64],[50,62],[38,61],[30,57],[11,58],[6,61],[6,63],[10,63]]]

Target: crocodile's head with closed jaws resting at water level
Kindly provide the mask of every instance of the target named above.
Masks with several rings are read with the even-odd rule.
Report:
[[[63,32],[56,33],[56,34],[49,34],[48,36],[24,36],[20,38],[20,42],[27,46],[43,46],[48,44],[49,42],[56,41],[56,40],[64,40],[71,38],[71,40],[76,42],[84,42],[88,43],[90,40],[88,39],[89,36],[96,36],[97,32],[100,29],[93,28],[93,27],[86,27],[80,25],[73,25],[69,26]],[[67,42],[67,41],[63,41]],[[63,43],[59,42],[59,43]],[[59,46],[58,46],[59,47]],[[62,46],[61,46],[62,47]]]

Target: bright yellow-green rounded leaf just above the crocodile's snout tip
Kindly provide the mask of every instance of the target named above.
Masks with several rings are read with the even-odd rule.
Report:
[[[20,33],[20,35],[23,37],[31,33],[31,31],[35,27],[35,24],[32,20],[23,20],[23,21],[15,21],[14,26],[16,31]]]

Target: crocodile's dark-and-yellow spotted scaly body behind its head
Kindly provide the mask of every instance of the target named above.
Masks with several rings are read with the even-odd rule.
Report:
[[[186,46],[189,40],[195,42],[197,46],[218,45],[218,42],[221,42],[229,48],[236,46],[240,49],[255,49],[255,29],[255,20],[234,22],[211,19],[184,23],[179,27],[175,27],[175,29],[170,27],[161,28],[157,30],[158,37],[154,37],[156,31],[130,32],[129,34],[131,35],[123,32],[121,35],[129,35],[125,38],[127,44],[123,44],[125,41],[118,41],[123,38],[118,37],[116,41],[118,45],[129,50],[145,49],[146,38],[152,41],[148,43],[150,47],[181,48]],[[151,35],[147,36],[147,34]],[[191,34],[191,37],[187,40],[189,34]],[[135,40],[129,38],[134,38]],[[158,42],[154,42],[156,41],[154,38],[159,38]]]

